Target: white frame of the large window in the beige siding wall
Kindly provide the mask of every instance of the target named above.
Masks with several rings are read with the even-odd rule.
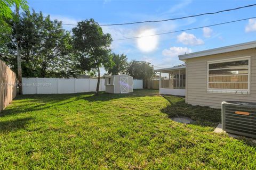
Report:
[[[222,62],[234,62],[234,61],[242,61],[242,60],[248,60],[248,74],[239,74],[239,75],[248,75],[248,88],[247,89],[212,89],[212,88],[209,88],[209,64],[222,63]],[[241,67],[243,67],[243,66],[241,66]],[[239,68],[241,68],[241,67],[239,67]],[[211,69],[211,70],[221,70],[221,69]],[[227,76],[227,75],[216,75],[216,76]],[[236,57],[236,58],[225,59],[225,60],[207,61],[207,78],[206,79],[207,79],[207,92],[250,95],[250,92],[251,92],[251,56]]]

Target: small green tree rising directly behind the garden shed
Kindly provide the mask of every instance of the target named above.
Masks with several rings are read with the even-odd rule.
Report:
[[[124,54],[115,54],[113,53],[113,62],[114,66],[106,67],[107,73],[110,75],[124,74],[126,72],[128,62],[127,57]]]

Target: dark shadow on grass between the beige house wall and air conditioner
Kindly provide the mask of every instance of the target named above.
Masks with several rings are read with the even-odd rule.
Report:
[[[187,116],[195,121],[193,124],[214,128],[221,122],[221,109],[189,105],[182,98],[177,100],[176,96],[163,95],[163,97],[169,101],[170,105],[162,108],[161,112],[167,114],[170,118]]]

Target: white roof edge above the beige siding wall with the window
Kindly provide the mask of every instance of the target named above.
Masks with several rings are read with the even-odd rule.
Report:
[[[250,48],[256,48],[256,41],[251,41],[251,42],[236,44],[231,46],[225,46],[220,48],[213,48],[213,49],[203,50],[201,52],[183,54],[183,55],[179,55],[179,60],[186,60],[189,58],[202,57],[202,56],[213,55],[213,54],[234,52],[237,50],[244,50],[244,49],[250,49]]]

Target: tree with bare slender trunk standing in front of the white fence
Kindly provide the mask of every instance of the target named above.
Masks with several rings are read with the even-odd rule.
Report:
[[[96,94],[99,94],[100,68],[113,65],[110,45],[111,36],[103,33],[102,28],[93,19],[78,22],[73,31],[74,55],[79,61],[78,68],[82,71],[97,71],[98,83]]]

